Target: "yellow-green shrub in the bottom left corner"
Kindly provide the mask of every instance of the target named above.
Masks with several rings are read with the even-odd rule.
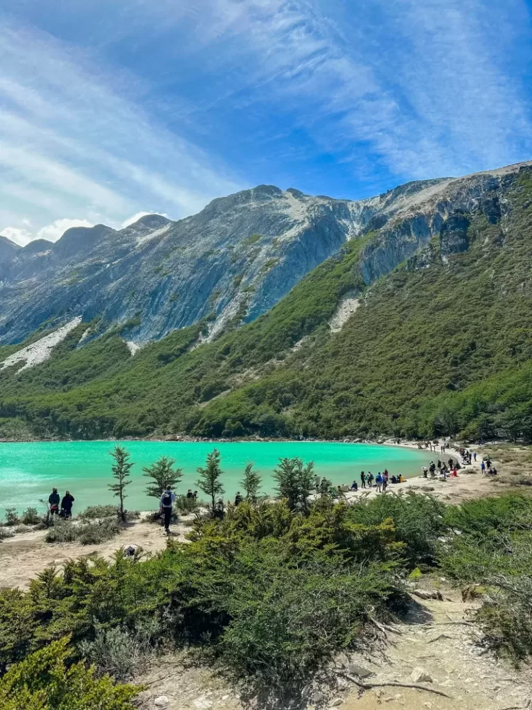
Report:
[[[140,687],[97,679],[84,663],[69,665],[68,638],[13,665],[0,681],[0,710],[133,710]]]

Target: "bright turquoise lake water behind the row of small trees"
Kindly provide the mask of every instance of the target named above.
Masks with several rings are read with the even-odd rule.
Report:
[[[183,469],[177,493],[197,488],[197,467],[203,466],[206,455],[215,447],[220,450],[225,497],[238,491],[246,461],[255,461],[262,476],[262,492],[274,493],[273,470],[279,458],[301,457],[314,461],[316,475],[326,476],[333,484],[360,485],[360,471],[388,469],[389,474],[419,476],[421,466],[435,454],[406,447],[381,444],[343,444],[336,442],[118,442],[131,453],[135,461],[131,469],[126,508],[150,510],[157,503],[145,495],[148,479],[143,466],[149,466],[160,456],[175,459]],[[44,510],[41,498],[48,499],[52,486],[61,494],[66,488],[76,499],[74,513],[87,506],[113,503],[107,484],[111,477],[112,459],[109,452],[115,442],[31,442],[0,444],[0,518],[4,508],[21,511],[28,506]],[[199,497],[204,497],[199,494]]]

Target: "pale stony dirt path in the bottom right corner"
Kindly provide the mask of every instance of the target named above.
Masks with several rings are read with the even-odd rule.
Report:
[[[348,692],[345,710],[377,710],[383,704],[409,710],[498,710],[528,708],[531,703],[530,670],[517,671],[496,660],[478,645],[480,630],[471,623],[471,602],[463,602],[455,590],[441,589],[444,601],[416,603],[417,618],[399,625],[399,634],[389,633],[389,644],[369,667],[375,672],[368,682],[397,680],[411,683],[414,668],[421,668],[432,682],[421,685],[440,690],[450,698],[400,687]],[[466,623],[452,622],[466,621]],[[421,622],[421,623],[420,623]]]

